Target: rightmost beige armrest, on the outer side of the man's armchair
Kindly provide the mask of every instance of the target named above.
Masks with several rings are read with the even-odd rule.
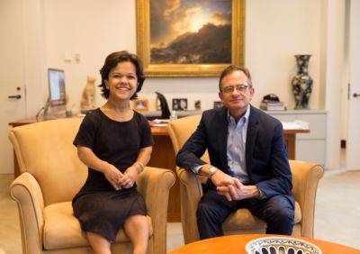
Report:
[[[324,168],[311,162],[289,162],[293,174],[293,194],[302,210],[302,236],[313,237],[316,193]]]

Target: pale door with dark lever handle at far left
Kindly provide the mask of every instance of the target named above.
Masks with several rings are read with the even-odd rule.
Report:
[[[0,174],[14,173],[9,122],[25,116],[23,0],[0,0]]]

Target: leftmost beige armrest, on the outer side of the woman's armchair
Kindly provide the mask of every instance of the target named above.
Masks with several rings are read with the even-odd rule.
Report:
[[[23,173],[11,184],[10,195],[19,207],[23,253],[42,253],[44,200],[39,183]]]

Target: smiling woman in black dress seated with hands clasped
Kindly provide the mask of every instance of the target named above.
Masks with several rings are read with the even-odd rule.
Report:
[[[121,227],[133,253],[146,253],[146,207],[135,181],[150,159],[153,140],[147,119],[130,109],[145,80],[142,63],[127,51],[114,52],[100,73],[107,102],[85,116],[74,141],[89,168],[73,199],[74,213],[94,253],[111,253]]]

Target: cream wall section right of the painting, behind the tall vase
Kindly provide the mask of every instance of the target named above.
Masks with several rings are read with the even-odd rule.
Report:
[[[321,109],[320,1],[247,1],[246,65],[257,85],[256,104],[263,95],[275,93],[294,106],[291,80],[296,73],[294,54],[312,55],[309,74],[313,78],[310,106]]]

